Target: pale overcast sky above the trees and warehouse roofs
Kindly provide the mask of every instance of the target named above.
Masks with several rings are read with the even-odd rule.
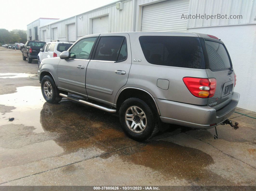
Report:
[[[27,30],[27,24],[42,18],[68,18],[117,0],[1,0],[0,29]]]

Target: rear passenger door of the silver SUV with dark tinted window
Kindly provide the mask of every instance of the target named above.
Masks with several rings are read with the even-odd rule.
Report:
[[[88,98],[113,105],[115,95],[127,82],[131,63],[127,33],[100,34],[86,70]]]

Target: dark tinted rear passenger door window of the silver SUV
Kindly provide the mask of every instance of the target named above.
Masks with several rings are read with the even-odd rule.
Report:
[[[125,38],[122,36],[101,37],[95,52],[94,60],[117,61],[124,40]],[[124,55],[121,55],[120,59],[123,59],[124,56],[127,57],[127,48],[125,47],[126,43],[122,49]]]

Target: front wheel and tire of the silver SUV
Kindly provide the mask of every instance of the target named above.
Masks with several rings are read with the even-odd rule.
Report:
[[[47,84],[50,85],[50,87],[47,86]],[[47,93],[45,92],[46,87],[49,87],[49,89],[47,91],[49,92],[49,90],[50,90],[51,95],[49,94],[47,96]],[[60,91],[57,89],[55,82],[48,75],[44,76],[41,81],[41,91],[42,91],[42,95],[43,95],[44,99],[49,103],[56,104],[56,103],[60,102],[60,100],[62,99],[62,97],[59,95]]]

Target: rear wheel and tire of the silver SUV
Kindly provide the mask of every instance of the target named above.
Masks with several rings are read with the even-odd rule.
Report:
[[[126,114],[129,115],[127,117],[129,120],[126,120]],[[136,114],[136,117],[134,117],[134,114]],[[122,103],[119,109],[119,119],[124,133],[135,141],[145,141],[156,134],[159,129],[157,116],[150,106],[139,98],[128,98]]]

